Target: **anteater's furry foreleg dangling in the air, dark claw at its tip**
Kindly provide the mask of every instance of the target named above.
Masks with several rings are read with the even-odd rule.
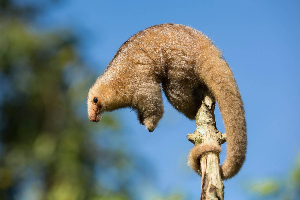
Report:
[[[133,94],[132,106],[137,110],[140,123],[152,132],[164,113],[159,83],[152,80],[140,81]]]

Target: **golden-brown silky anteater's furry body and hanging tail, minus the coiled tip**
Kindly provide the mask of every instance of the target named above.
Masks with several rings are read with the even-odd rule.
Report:
[[[206,88],[214,95],[225,124],[227,157],[221,171],[224,179],[231,178],[246,154],[243,103],[221,52],[193,28],[161,24],[129,38],[91,87],[88,116],[98,122],[104,111],[132,107],[140,123],[152,132],[164,112],[161,89],[175,109],[195,119]]]

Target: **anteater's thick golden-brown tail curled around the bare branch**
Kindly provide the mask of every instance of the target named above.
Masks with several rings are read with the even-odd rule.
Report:
[[[229,179],[241,169],[247,148],[246,121],[241,95],[230,67],[220,56],[202,62],[198,75],[216,99],[223,118],[227,153],[226,160],[221,166],[221,177]],[[219,151],[217,149],[216,145],[196,145],[189,155],[190,166],[192,167],[191,163],[195,163],[192,157],[198,156],[199,160],[201,154],[209,151],[217,152]],[[193,151],[199,152],[195,154]],[[193,169],[199,170],[197,167]]]

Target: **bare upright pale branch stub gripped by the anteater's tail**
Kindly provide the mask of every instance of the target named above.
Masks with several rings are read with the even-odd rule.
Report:
[[[188,140],[193,144],[209,142],[221,145],[226,142],[226,135],[217,130],[214,108],[214,97],[207,92],[196,115],[197,128],[193,134],[187,134]],[[213,152],[203,154],[200,163],[202,177],[200,199],[223,200],[224,184],[220,174],[219,154]]]

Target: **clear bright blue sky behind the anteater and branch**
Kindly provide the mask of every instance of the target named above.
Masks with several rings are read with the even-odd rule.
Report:
[[[42,26],[73,29],[83,41],[79,51],[97,74],[125,40],[151,25],[174,22],[205,33],[235,74],[247,119],[247,160],[225,182],[225,199],[254,198],[247,192],[251,181],[283,178],[292,169],[300,152],[299,1],[73,0],[38,20]],[[130,109],[115,112],[129,150],[154,168],[155,184],[137,190],[148,199],[176,192],[199,199],[201,179],[186,164],[193,146],[186,134],[193,133],[195,123],[164,101],[164,117],[153,133],[139,125]],[[223,132],[218,109],[216,120]],[[221,161],[226,155],[222,148]]]

